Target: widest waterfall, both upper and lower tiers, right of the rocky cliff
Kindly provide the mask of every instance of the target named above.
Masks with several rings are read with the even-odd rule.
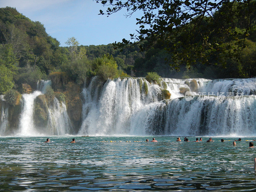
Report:
[[[222,100],[213,96],[196,100],[196,96],[192,101],[178,98],[183,96],[179,88],[188,88],[192,80],[196,80],[197,92],[207,89],[212,92],[210,84],[214,87],[214,82],[209,79],[163,78],[172,95],[171,100],[160,101],[163,100],[159,99],[163,87],[149,84],[143,78],[109,79],[102,85],[94,77],[82,92],[83,124],[79,134],[255,135],[255,96],[243,99],[222,97]],[[230,90],[229,81],[233,81],[234,88],[238,82],[252,82],[254,79],[227,81],[226,87]],[[100,87],[103,87],[102,91]]]

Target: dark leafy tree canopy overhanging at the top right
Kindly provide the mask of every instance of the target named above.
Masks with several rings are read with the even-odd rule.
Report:
[[[115,46],[132,46],[147,40],[149,47],[161,42],[172,54],[171,67],[179,70],[181,64],[216,64],[220,52],[232,52],[239,58],[246,46],[245,39],[255,30],[255,6],[252,0],[97,0],[108,16],[126,9],[126,16],[141,11],[137,18],[140,30],[130,34]],[[145,46],[140,44],[140,49]],[[216,57],[214,63],[210,57]]]

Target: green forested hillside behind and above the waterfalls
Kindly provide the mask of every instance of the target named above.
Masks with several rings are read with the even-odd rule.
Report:
[[[214,17],[221,17],[225,10],[216,11]],[[221,21],[221,20],[220,20]],[[49,36],[44,25],[39,21],[31,21],[15,8],[0,8],[0,94],[10,89],[20,91],[22,84],[36,88],[40,79],[52,79],[59,82],[73,82],[83,85],[87,78],[98,75],[102,81],[118,76],[146,76],[147,72],[156,72],[162,77],[173,78],[247,78],[256,75],[256,25],[255,17],[250,21],[248,35],[245,39],[232,40],[231,43],[221,34],[210,34],[209,38],[220,39],[222,44],[212,50],[206,63],[196,59],[193,64],[179,61],[179,68],[174,68],[171,51],[162,41],[149,44],[143,41],[131,47],[116,49],[108,45],[80,45],[75,37],[67,39],[67,46],[60,47],[60,42]],[[202,21],[202,30],[214,25],[207,18]],[[227,25],[234,33],[243,34],[245,29],[243,18],[237,18]],[[182,32],[177,36],[182,37]],[[243,43],[243,49],[239,44]],[[202,42],[197,42],[202,44]],[[141,52],[140,45],[146,47]],[[223,47],[231,47],[225,51]],[[233,54],[239,49],[239,55]],[[178,47],[178,52],[184,48]],[[224,51],[223,51],[224,50]],[[170,64],[173,68],[170,67]],[[176,69],[176,70],[175,70]],[[127,75],[128,74],[128,75]],[[64,88],[56,87],[55,91]],[[20,91],[21,92],[21,91]]]

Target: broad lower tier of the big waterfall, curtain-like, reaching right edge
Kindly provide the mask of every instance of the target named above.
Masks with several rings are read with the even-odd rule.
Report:
[[[162,101],[132,118],[131,134],[252,136],[256,135],[256,96]]]

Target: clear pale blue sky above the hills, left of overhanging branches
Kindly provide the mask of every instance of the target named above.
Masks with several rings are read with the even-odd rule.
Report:
[[[109,44],[129,39],[139,26],[136,17],[124,16],[118,12],[109,17],[98,15],[105,10],[102,4],[93,0],[0,0],[0,7],[16,9],[33,21],[44,24],[46,32],[66,46],[68,37],[76,37],[82,45]]]

